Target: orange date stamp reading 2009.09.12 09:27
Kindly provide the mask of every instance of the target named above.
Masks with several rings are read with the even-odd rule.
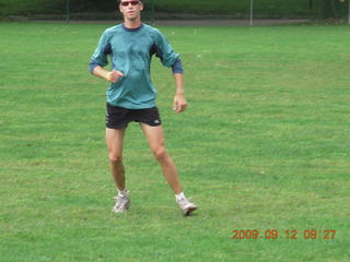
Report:
[[[235,229],[232,231],[232,239],[335,239],[335,229],[305,229],[305,230],[257,230],[257,229]]]

